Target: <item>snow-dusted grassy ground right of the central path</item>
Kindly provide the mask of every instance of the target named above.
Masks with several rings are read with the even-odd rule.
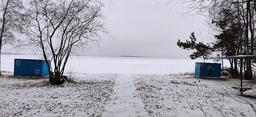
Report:
[[[256,83],[243,96],[239,79],[132,75],[150,116],[256,116]]]

